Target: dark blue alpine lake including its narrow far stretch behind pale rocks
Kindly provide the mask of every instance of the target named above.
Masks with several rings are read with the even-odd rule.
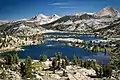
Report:
[[[91,52],[80,47],[65,45],[69,43],[68,41],[55,41],[56,38],[61,39],[80,39],[89,43],[92,40],[101,40],[102,38],[99,35],[94,34],[77,34],[77,33],[45,33],[44,41],[42,44],[38,45],[29,45],[23,46],[21,51],[18,51],[18,56],[20,59],[25,59],[27,56],[30,56],[32,59],[39,59],[40,54],[45,54],[49,58],[52,58],[53,55],[57,52],[60,52],[62,56],[67,56],[72,60],[73,56],[77,56],[82,60],[86,59],[95,59],[100,64],[109,63],[109,53],[104,52]]]

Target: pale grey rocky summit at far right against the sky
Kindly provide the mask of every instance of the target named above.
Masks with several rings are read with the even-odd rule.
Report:
[[[103,16],[109,16],[109,17],[115,17],[119,14],[119,11],[112,7],[105,7],[102,10],[95,13],[96,16],[103,17]]]

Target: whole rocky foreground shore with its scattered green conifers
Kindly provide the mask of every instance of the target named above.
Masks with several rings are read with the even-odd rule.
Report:
[[[40,60],[30,57],[19,60],[17,55],[0,60],[0,80],[116,80],[111,73],[108,66],[101,66],[94,60],[82,61],[73,56],[69,61],[67,57],[61,58],[60,53],[50,59],[43,54]]]

